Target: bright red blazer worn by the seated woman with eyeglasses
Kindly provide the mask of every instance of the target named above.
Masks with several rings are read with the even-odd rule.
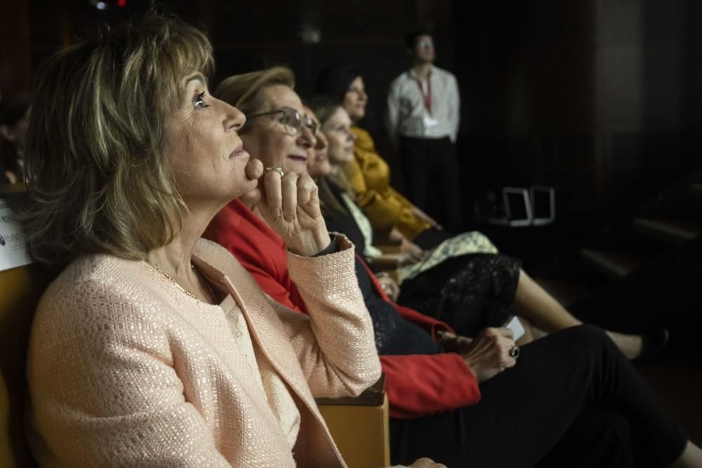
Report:
[[[207,227],[204,237],[234,254],[267,295],[298,312],[307,312],[288,273],[283,239],[244,203],[237,199],[225,206]],[[368,269],[365,263],[364,266]],[[390,302],[368,271],[376,292]],[[451,330],[446,323],[390,304],[404,319],[424,328],[435,339],[437,330]],[[475,375],[458,354],[385,355],[380,356],[380,363],[392,417],[411,418],[454,410],[480,399]]]

